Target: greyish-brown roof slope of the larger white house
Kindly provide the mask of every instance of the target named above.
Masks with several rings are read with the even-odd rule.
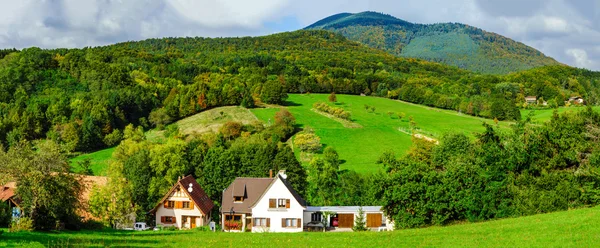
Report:
[[[271,185],[274,178],[238,177],[223,191],[221,211],[226,213],[233,209],[236,213],[250,213],[250,209]],[[240,195],[243,194],[243,195]],[[234,196],[243,196],[242,202],[233,202]]]

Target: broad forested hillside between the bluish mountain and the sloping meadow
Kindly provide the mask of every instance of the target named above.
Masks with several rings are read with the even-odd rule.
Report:
[[[581,95],[596,104],[600,89],[598,73],[584,70],[478,75],[327,31],[0,54],[0,142],[49,138],[68,152],[114,146],[128,124],[150,128],[216,106],[282,103],[288,92],[364,93],[515,120],[525,95],[558,104]]]

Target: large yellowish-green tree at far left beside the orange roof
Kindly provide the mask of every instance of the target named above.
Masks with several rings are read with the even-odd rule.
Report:
[[[82,186],[56,143],[45,141],[33,147],[19,142],[8,152],[0,149],[0,161],[0,183],[16,182],[23,215],[33,220],[35,229],[55,229],[59,222],[78,228]]]

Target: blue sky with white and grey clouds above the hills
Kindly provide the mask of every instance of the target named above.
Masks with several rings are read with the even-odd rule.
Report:
[[[268,35],[341,12],[377,11],[415,23],[469,24],[600,71],[600,0],[0,0],[0,6],[0,48]]]

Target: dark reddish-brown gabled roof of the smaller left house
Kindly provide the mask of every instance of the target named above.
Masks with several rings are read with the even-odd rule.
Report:
[[[188,190],[188,188],[190,188],[190,185],[192,188],[192,192]],[[196,182],[196,179],[194,179],[193,176],[187,176],[177,181],[177,183],[175,183],[175,185],[171,187],[171,190],[169,190],[169,192],[165,194],[162,200],[160,200],[156,207],[150,210],[150,212],[156,212],[156,210],[163,205],[163,202],[167,200],[167,198],[169,198],[169,196],[177,188],[180,188],[181,191],[185,192],[188,195],[188,197],[190,197],[190,199],[194,202],[194,204],[198,206],[198,208],[200,209],[200,211],[202,211],[204,215],[210,214],[210,211],[213,209],[213,207],[215,207],[215,204],[210,200],[210,198],[208,198],[208,195],[206,194],[206,192],[204,192],[204,189],[202,189],[202,187],[200,187],[200,184]]]

